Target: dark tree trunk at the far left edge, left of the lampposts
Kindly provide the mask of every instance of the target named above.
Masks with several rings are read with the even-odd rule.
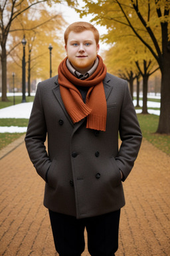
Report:
[[[2,97],[1,101],[7,99],[7,51],[5,43],[1,43],[1,68],[2,68]]]

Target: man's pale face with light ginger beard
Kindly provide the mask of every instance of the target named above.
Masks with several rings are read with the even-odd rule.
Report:
[[[65,49],[74,69],[85,74],[94,65],[99,45],[96,45],[92,31],[85,30],[81,33],[71,31]]]

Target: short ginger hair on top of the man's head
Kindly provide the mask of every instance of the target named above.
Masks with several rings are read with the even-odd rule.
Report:
[[[94,25],[92,25],[88,22],[84,22],[84,21],[74,22],[67,27],[67,29],[64,33],[65,45],[67,44],[68,35],[70,34],[71,31],[73,31],[75,33],[81,33],[85,30],[90,30],[94,33],[94,39],[96,40],[96,45],[98,45],[99,38],[100,38],[98,29],[96,29],[96,27],[94,27]]]

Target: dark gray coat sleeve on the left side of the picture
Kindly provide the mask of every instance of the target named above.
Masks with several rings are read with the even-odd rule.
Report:
[[[45,141],[46,121],[41,103],[41,86],[39,84],[25,136],[25,144],[37,173],[39,173],[44,181],[46,181],[46,172],[51,163],[44,145]]]

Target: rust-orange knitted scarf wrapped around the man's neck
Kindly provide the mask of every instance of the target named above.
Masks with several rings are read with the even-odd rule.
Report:
[[[58,83],[66,111],[73,123],[87,117],[86,128],[106,131],[107,105],[102,81],[107,70],[102,58],[98,55],[98,67],[86,80],[80,80],[70,73],[66,59],[67,57],[58,67]],[[76,86],[90,87],[86,95],[86,104]]]

